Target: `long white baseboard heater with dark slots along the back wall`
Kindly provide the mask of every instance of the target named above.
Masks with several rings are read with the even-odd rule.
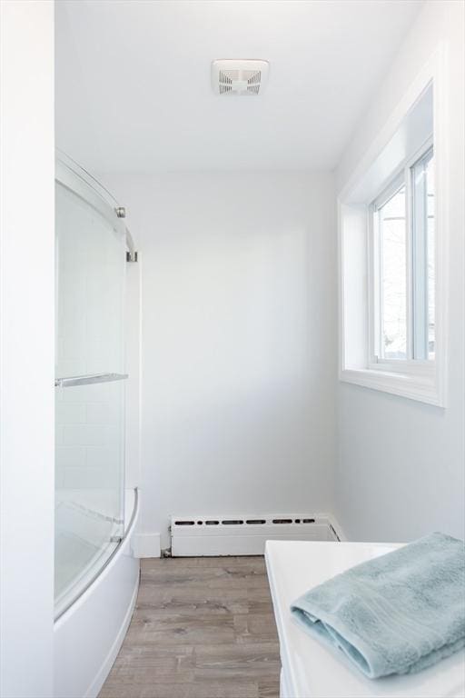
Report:
[[[339,541],[328,514],[172,516],[171,554],[262,555],[266,541]]]

